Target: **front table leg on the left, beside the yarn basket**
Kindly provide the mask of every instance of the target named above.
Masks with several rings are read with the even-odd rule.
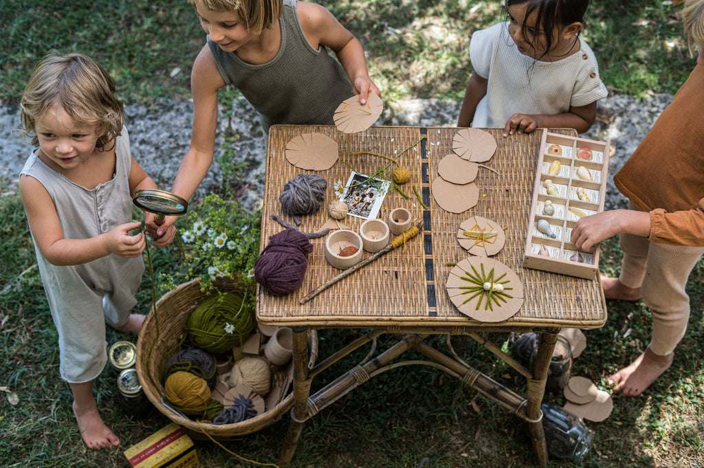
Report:
[[[291,422],[284,437],[279,454],[279,466],[288,467],[296,452],[298,438],[301,436],[303,421],[308,411],[310,379],[308,379],[308,328],[293,327],[294,349],[294,407],[291,410]]]

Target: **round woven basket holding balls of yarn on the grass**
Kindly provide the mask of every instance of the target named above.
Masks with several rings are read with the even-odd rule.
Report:
[[[234,280],[222,284],[218,289],[223,292],[244,292],[242,286]],[[182,417],[170,410],[162,403],[163,384],[159,379],[159,364],[163,355],[176,343],[176,339],[184,336],[184,324],[191,310],[206,300],[206,293],[201,291],[197,279],[180,284],[166,293],[156,303],[158,314],[158,328],[154,312],[150,312],[144,320],[144,325],[139,331],[137,341],[137,375],[142,384],[144,393],[156,408],[173,422],[184,426],[191,431],[207,433],[212,438],[226,439],[232,436],[244,436],[259,431],[264,427],[277,422],[285,412],[294,404],[293,393],[289,393],[278,405],[251,419],[234,424],[210,424],[207,422],[193,421]],[[161,336],[161,339],[158,339]],[[310,352],[309,365],[315,364],[318,355],[318,335],[314,330],[308,331],[308,349]]]

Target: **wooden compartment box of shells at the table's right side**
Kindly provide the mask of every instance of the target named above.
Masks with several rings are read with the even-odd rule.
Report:
[[[570,236],[579,218],[604,209],[609,144],[543,130],[524,267],[596,278],[599,246],[591,253],[577,251]]]

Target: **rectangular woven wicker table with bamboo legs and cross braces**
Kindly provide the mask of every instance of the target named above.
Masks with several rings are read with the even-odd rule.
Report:
[[[284,151],[289,140],[303,133],[320,132],[338,142],[340,160],[329,170],[318,172],[329,183],[326,207],[334,199],[333,182],[346,182],[351,172],[350,167],[356,172],[370,175],[388,163],[383,158],[358,152],[369,151],[395,157],[421,140],[398,159],[402,167],[410,170],[410,182],[403,185],[406,193],[410,194],[410,199],[390,191],[379,213],[379,217],[385,219],[392,208],[406,207],[422,220],[421,234],[405,246],[396,248],[332,285],[310,302],[300,305],[298,301],[303,295],[340,271],[328,265],[325,260],[325,238],[313,239],[314,251],[309,255],[308,272],[301,289],[287,296],[272,296],[261,287],[258,290],[258,320],[263,324],[294,329],[294,408],[291,410],[291,424],[279,460],[282,465],[289,464],[294,455],[303,422],[375,374],[389,366],[399,365],[398,362],[391,361],[410,349],[425,356],[428,365],[458,377],[465,384],[527,420],[537,461],[541,466],[547,463],[540,405],[557,333],[562,327],[601,327],[606,319],[603,292],[596,277],[580,279],[524,269],[521,266],[541,132],[513,135],[504,139],[501,130],[489,129],[496,138],[498,148],[486,165],[498,174],[479,169],[476,180],[480,193],[479,203],[471,210],[454,214],[439,208],[430,193],[430,183],[438,177],[439,160],[452,152],[452,140],[457,130],[447,127],[372,127],[365,132],[350,135],[327,126],[277,125],[271,128],[263,203],[262,248],[267,244],[269,236],[282,229],[277,222],[271,220],[271,215],[282,215],[279,194],[284,184],[300,173],[310,173],[294,167],[285,159]],[[574,135],[572,130],[564,130],[562,133]],[[428,209],[415,197],[413,185]],[[445,289],[448,272],[452,268],[447,264],[457,263],[469,256],[455,239],[458,226],[474,215],[495,220],[505,228],[506,243],[495,258],[517,272],[524,285],[525,300],[522,308],[504,322],[471,320],[458,312]],[[316,232],[326,219],[327,209],[320,209],[314,215],[302,217],[300,229]],[[363,220],[348,216],[344,221],[351,229],[358,230]],[[365,257],[368,255],[370,254],[365,253]],[[306,331],[310,328],[369,331],[309,368]],[[533,371],[530,372],[494,343],[484,339],[479,334],[482,331],[539,332],[539,349]],[[315,395],[310,395],[310,385],[316,374],[382,334],[394,334],[398,337],[398,343],[373,359],[367,358]],[[518,395],[473,369],[453,351],[446,355],[427,345],[424,339],[430,334],[448,335],[448,344],[451,335],[470,336],[479,341],[527,378],[527,397]],[[451,346],[449,349],[452,350]]]

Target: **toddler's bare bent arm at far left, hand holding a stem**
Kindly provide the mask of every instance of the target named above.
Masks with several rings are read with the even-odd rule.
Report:
[[[89,239],[65,239],[49,192],[34,177],[20,177],[20,196],[39,251],[54,265],[80,265],[111,253],[133,258],[142,255],[144,234],[130,236],[141,222],[128,222]]]

